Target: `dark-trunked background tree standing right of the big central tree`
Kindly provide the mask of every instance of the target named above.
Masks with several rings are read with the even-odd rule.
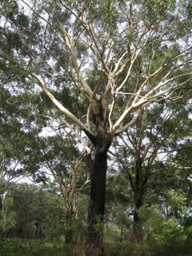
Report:
[[[145,109],[143,117],[137,120],[126,135],[120,136],[114,143],[114,155],[119,160],[119,165],[122,166],[124,176],[128,178],[132,190],[133,230],[138,237],[142,237],[143,233],[139,208],[143,207],[146,201],[149,202],[150,197],[156,198],[156,202],[161,198],[165,204],[168,194],[172,191],[177,194],[183,191],[182,194],[186,198],[189,197],[190,101],[189,94],[179,102],[150,106]],[[186,151],[183,151],[185,163],[183,163],[181,159],[184,156],[181,150],[185,147]],[[175,212],[177,217],[177,210]]]

